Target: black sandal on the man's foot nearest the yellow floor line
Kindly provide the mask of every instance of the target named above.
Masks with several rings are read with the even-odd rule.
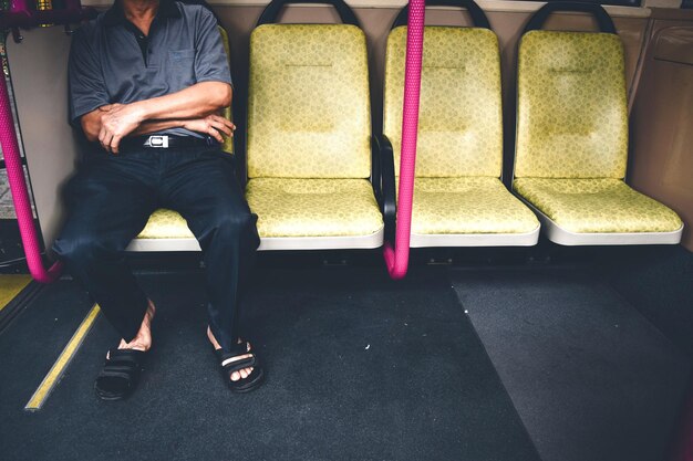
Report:
[[[136,349],[112,349],[96,377],[94,390],[103,400],[121,400],[130,396],[142,374],[147,353]]]

